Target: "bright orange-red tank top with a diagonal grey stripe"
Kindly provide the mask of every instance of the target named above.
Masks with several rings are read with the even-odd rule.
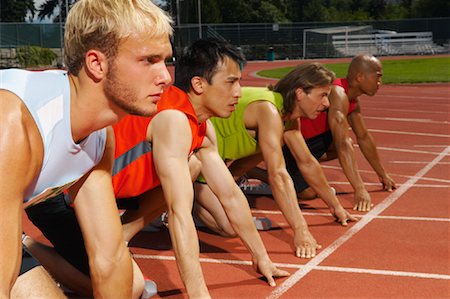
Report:
[[[192,153],[203,142],[206,122],[198,123],[189,97],[175,86],[170,86],[161,95],[156,114],[168,109],[180,110],[188,117],[192,132]],[[153,164],[151,143],[146,141],[151,120],[152,117],[128,115],[113,126],[116,139],[113,169],[116,198],[137,196],[161,184]]]

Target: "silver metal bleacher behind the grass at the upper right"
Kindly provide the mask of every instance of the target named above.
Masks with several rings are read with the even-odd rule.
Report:
[[[425,55],[446,53],[448,49],[433,42],[432,32],[335,34],[335,50],[342,56],[359,53],[373,55]]]

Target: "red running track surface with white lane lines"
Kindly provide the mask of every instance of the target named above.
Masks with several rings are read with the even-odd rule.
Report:
[[[348,60],[347,60],[348,61]],[[299,61],[250,62],[242,85],[267,85],[256,70]],[[272,288],[250,266],[238,238],[199,232],[206,283],[213,298],[450,298],[450,85],[382,86],[363,97],[381,159],[398,189],[381,191],[375,173],[357,151],[373,202],[348,227],[335,223],[320,199],[304,201],[312,234],[323,245],[310,260],[293,254],[292,231],[270,197],[252,196],[254,215],[266,215],[274,229],[261,232],[271,259],[291,273]],[[352,188],[337,161],[322,164],[344,207]],[[28,224],[27,224],[28,225]],[[141,232],[130,244],[159,298],[187,298],[168,231]]]

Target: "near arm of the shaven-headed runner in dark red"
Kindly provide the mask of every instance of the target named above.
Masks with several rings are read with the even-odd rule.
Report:
[[[355,206],[358,211],[369,211],[371,198],[364,182],[358,172],[355,150],[352,139],[348,134],[350,127],[347,121],[349,100],[342,87],[333,86],[329,96],[330,108],[328,110],[328,123],[330,125],[333,140],[339,162],[345,176],[355,190]]]

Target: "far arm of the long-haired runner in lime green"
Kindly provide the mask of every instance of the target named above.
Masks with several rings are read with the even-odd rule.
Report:
[[[319,162],[309,151],[300,130],[295,129],[286,131],[283,135],[283,139],[294,156],[297,167],[302,172],[306,182],[328,205],[331,214],[344,226],[347,225],[347,220],[356,220],[344,210],[336,195],[331,191],[331,187],[328,184]]]

